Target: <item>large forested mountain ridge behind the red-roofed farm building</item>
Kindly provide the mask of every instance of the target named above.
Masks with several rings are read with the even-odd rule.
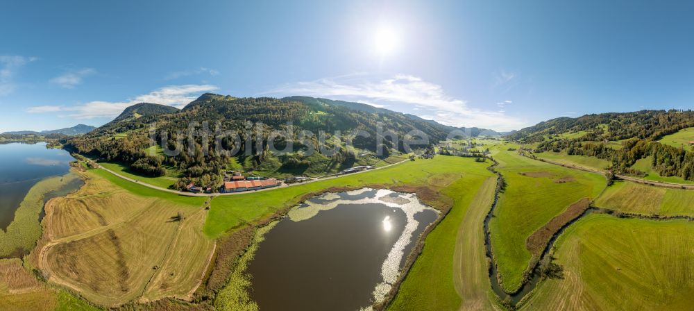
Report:
[[[157,155],[147,153],[152,124],[156,127],[158,144],[164,135],[169,142],[172,137],[178,137],[183,152],[171,157],[162,156],[162,151],[158,151]],[[205,124],[210,134],[218,129],[230,131],[238,134],[242,142],[249,140],[251,144],[235,143],[234,137],[226,136],[221,140],[222,148],[230,150],[236,147],[238,155],[205,154],[203,150],[215,149],[215,140],[205,142],[198,136],[193,137],[191,142],[187,135],[189,126],[194,126],[194,131],[198,133]],[[455,130],[473,137],[483,133],[498,135],[480,128],[445,126],[363,103],[306,96],[239,98],[206,93],[182,110],[151,103],[131,106],[92,133],[67,140],[66,146],[72,151],[101,160],[122,162],[151,176],[167,174],[167,169],[162,168],[167,167],[169,171],[183,174],[184,180],[178,185],[189,182],[190,178],[201,181],[195,178],[203,177],[203,185],[213,185],[222,171],[239,166],[257,174],[281,176],[285,173],[320,175],[334,173],[357,163],[370,165],[373,160],[366,158],[385,159],[389,155],[407,151],[403,140],[408,137],[428,137],[427,144],[412,146],[425,148],[446,140],[448,134]],[[276,131],[290,135],[273,136]],[[305,131],[313,135],[302,137]],[[408,133],[414,134],[408,136]],[[379,135],[384,139],[378,139]],[[321,136],[324,142],[321,142]],[[268,151],[271,145],[284,149],[289,143],[294,150],[280,154]],[[191,146],[194,149],[190,149]],[[317,151],[321,150],[321,146],[337,150],[337,153],[319,153]],[[169,149],[175,147],[175,144],[169,145]],[[246,150],[248,147],[251,150]],[[305,152],[310,149],[316,152]],[[377,151],[383,153],[377,155]]]

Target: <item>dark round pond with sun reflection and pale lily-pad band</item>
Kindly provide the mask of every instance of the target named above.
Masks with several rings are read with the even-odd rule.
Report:
[[[294,208],[248,265],[260,310],[359,310],[380,301],[438,217],[414,194],[363,189]]]

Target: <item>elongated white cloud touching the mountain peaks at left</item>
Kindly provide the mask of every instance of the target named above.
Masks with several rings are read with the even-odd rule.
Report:
[[[135,103],[160,103],[162,105],[183,108],[194,101],[201,93],[217,90],[214,85],[169,85],[160,89],[135,96],[127,101],[90,101],[77,106],[35,106],[28,108],[30,113],[62,112],[59,117],[76,119],[112,118],[120,115],[125,108]]]

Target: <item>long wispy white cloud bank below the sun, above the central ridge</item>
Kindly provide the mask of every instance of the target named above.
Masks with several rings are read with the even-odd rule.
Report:
[[[466,101],[446,94],[441,85],[411,75],[379,77],[354,74],[316,81],[289,83],[263,94],[323,96],[388,105],[406,110],[421,109],[421,117],[451,126],[477,126],[499,131],[520,128],[525,121],[502,112],[468,107]],[[402,109],[400,109],[402,110]]]

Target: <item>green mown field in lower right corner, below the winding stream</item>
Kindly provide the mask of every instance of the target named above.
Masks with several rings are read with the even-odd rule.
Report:
[[[523,310],[691,310],[694,223],[591,214],[557,239],[563,278],[544,280]]]

